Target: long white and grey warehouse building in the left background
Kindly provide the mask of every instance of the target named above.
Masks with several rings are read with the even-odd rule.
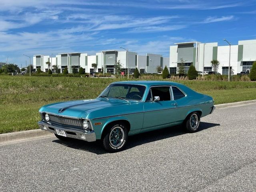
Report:
[[[76,71],[80,67],[84,69],[84,72],[94,72],[92,67],[93,63],[97,64],[96,72],[115,74],[116,62],[120,60],[122,64],[122,70],[127,74],[133,73],[135,68],[138,68],[140,73],[156,73],[156,67],[169,66],[169,58],[164,58],[160,54],[146,54],[146,56],[140,56],[136,52],[106,50],[96,53],[96,55],[88,55],[87,53],[60,53],[56,57],[34,55],[33,66],[37,71],[40,68],[43,72],[48,72],[48,64],[50,62],[52,68],[53,65],[57,65],[60,68],[61,73],[64,68],[68,68],[68,72],[72,72],[72,68]],[[129,67],[128,67],[129,65]]]

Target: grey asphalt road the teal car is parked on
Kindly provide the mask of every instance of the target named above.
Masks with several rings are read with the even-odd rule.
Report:
[[[0,191],[256,191],[256,104],[217,109],[200,131],[129,137],[109,154],[98,142],[55,137],[0,146]]]

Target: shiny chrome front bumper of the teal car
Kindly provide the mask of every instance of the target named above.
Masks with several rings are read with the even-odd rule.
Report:
[[[52,132],[54,134],[57,134],[56,129],[60,129],[60,130],[64,130],[66,132],[66,136],[70,137],[70,138],[75,138],[75,139],[81,139],[81,140],[85,140],[88,142],[92,142],[92,141],[96,141],[96,135],[95,132],[83,132],[78,131],[78,130],[72,130],[72,129],[67,129],[67,128],[62,128],[62,127],[58,127],[58,126],[54,126],[54,125],[49,125],[45,122],[38,122],[39,128],[44,130],[44,131],[49,131]]]

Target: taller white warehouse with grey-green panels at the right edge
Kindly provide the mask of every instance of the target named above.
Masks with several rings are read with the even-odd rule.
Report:
[[[230,52],[229,52],[230,50]],[[238,41],[238,45],[218,46],[217,42],[184,42],[170,46],[170,73],[178,73],[178,65],[183,59],[185,72],[191,64],[197,71],[212,71],[212,60],[220,62],[218,72],[228,74],[230,53],[230,72],[250,72],[252,64],[256,61],[256,40]]]

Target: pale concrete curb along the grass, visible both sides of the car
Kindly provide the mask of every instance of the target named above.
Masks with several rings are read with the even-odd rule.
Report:
[[[256,100],[218,104],[218,105],[215,105],[215,107],[216,109],[221,109],[221,108],[226,108],[231,106],[240,106],[240,105],[252,104],[252,103],[256,103]],[[53,134],[47,131],[42,131],[41,129],[12,132],[12,133],[0,134],[0,143],[14,142],[14,141],[27,140],[27,139],[40,138],[40,137],[49,137],[49,136],[53,136]]]

